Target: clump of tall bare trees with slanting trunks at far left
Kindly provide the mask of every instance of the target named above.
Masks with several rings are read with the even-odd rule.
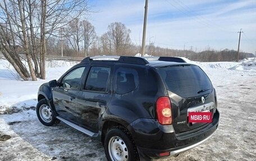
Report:
[[[47,39],[88,11],[86,0],[2,0],[0,51],[22,79],[45,79]],[[25,54],[29,72],[20,53]]]

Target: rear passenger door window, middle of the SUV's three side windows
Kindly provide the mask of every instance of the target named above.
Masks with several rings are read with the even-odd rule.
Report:
[[[107,84],[110,75],[108,67],[92,67],[85,83],[85,90],[107,91]]]

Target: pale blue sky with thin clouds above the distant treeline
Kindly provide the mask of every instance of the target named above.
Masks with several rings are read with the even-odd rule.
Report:
[[[148,0],[146,44],[170,49],[237,50],[256,52],[256,0]],[[89,21],[98,35],[112,22],[131,30],[131,41],[141,45],[144,20],[143,0],[89,0]]]

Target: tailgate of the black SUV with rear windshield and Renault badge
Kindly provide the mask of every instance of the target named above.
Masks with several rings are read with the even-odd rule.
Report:
[[[205,125],[188,122],[188,112],[209,109],[213,113],[216,108],[212,83],[203,70],[195,65],[176,65],[161,67],[158,71],[171,99],[175,132],[189,131]]]

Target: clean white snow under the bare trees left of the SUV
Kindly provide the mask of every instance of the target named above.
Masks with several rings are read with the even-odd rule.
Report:
[[[68,68],[79,62],[47,61],[46,80],[19,81],[13,67],[5,59],[0,59],[0,114],[19,112],[34,108],[40,85],[58,79]]]

